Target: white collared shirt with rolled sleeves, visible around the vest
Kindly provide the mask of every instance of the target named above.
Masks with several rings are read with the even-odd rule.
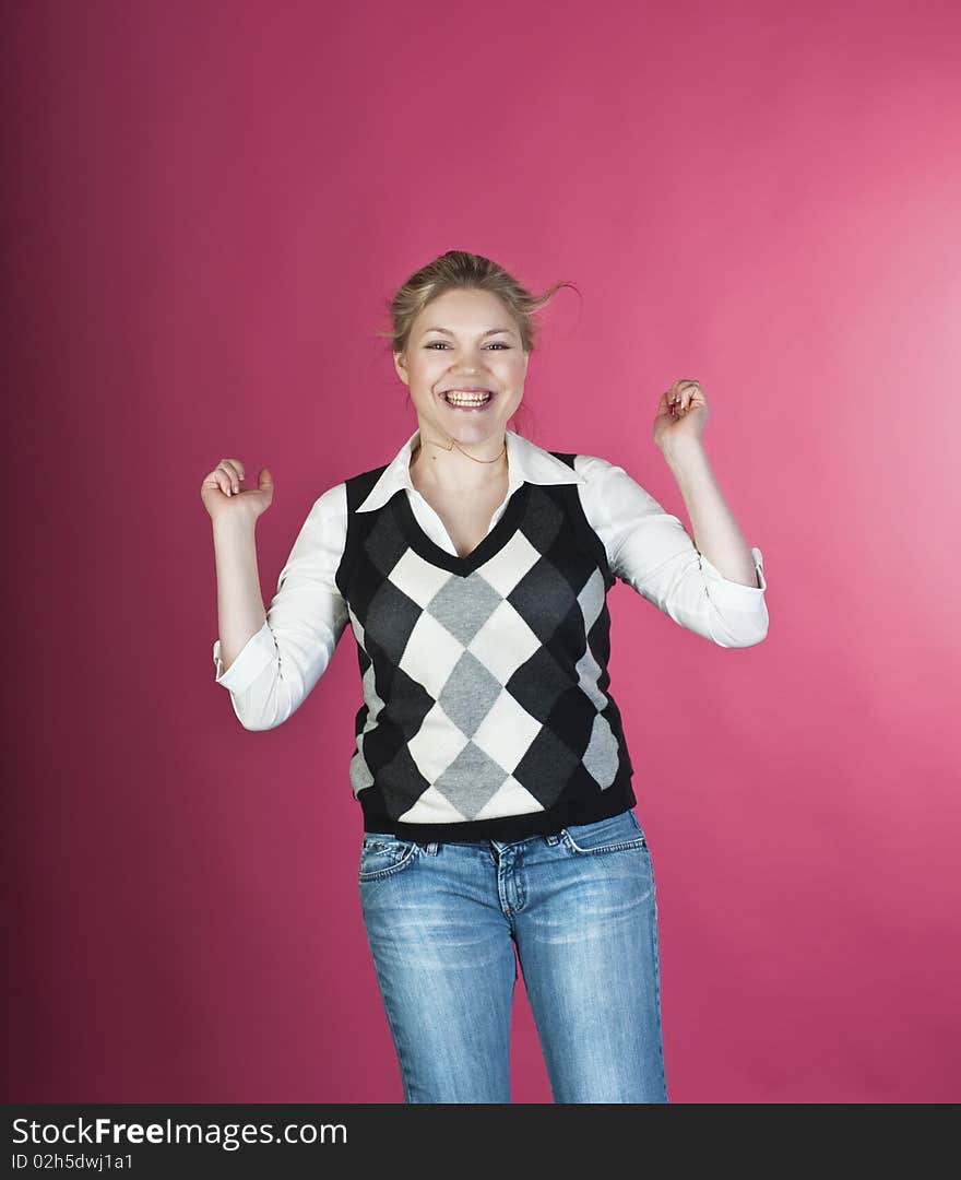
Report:
[[[458,556],[440,516],[410,479],[417,434],[414,431],[400,448],[357,511],[382,507],[403,489],[424,533]],[[505,435],[507,493],[491,518],[488,533],[525,481],[577,484],[585,516],[616,577],[678,625],[719,647],[748,648],[765,638],[766,582],[759,549],[751,549],[758,585],[732,582],[698,551],[680,520],[623,467],[578,454],[571,468],[522,434],[508,430]],[[226,670],[220,641],[215,641],[216,682],[229,689],[233,712],[246,729],[282,725],[327,669],[349,618],[335,582],[345,539],[347,485],[340,483],[315,500],[277,578],[264,625]]]

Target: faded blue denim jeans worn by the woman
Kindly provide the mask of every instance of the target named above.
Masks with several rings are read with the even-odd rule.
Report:
[[[406,1102],[511,1101],[518,961],[554,1102],[670,1101],[633,811],[509,841],[366,832],[358,883]]]

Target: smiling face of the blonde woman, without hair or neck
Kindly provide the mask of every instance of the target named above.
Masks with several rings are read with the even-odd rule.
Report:
[[[414,321],[406,354],[394,354],[423,435],[465,446],[501,445],[524,396],[527,361],[505,304],[474,289],[432,300]]]

